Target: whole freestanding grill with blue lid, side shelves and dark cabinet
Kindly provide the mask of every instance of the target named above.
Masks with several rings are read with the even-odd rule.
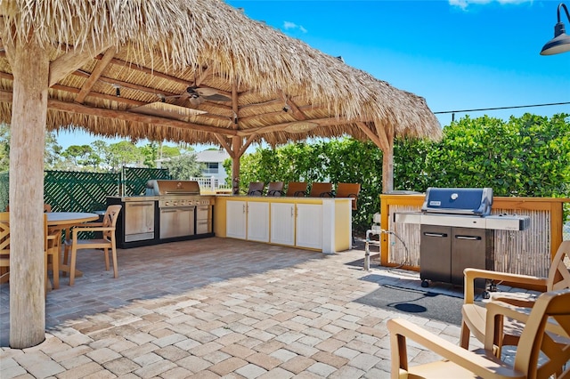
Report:
[[[492,205],[490,188],[428,188],[421,212],[394,214],[395,222],[420,225],[422,286],[428,280],[463,285],[465,268],[494,269],[494,230],[525,230],[530,217],[491,214]]]

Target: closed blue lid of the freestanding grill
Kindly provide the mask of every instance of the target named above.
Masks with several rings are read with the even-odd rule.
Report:
[[[493,189],[434,188],[426,191],[421,211],[424,214],[491,214]]]

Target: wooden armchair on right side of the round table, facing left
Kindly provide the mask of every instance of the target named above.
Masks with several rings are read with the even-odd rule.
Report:
[[[67,264],[68,250],[71,250],[71,262],[69,263],[69,286],[75,282],[75,267],[77,262],[77,250],[79,249],[102,249],[105,255],[105,270],[109,270],[109,250],[113,258],[113,276],[118,278],[117,264],[117,243],[115,239],[115,229],[117,225],[118,213],[122,206],[108,206],[103,216],[102,222],[87,222],[73,227],[72,238],[65,241],[66,252],[64,260]],[[83,231],[102,232],[102,238],[79,239],[78,234]]]

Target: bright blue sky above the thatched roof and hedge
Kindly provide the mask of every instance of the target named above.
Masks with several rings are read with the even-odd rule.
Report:
[[[416,93],[434,112],[570,101],[570,52],[542,56],[559,1],[228,0],[253,20]],[[570,6],[570,2],[567,2]],[[560,15],[570,33],[570,20]],[[457,112],[509,118],[570,113],[570,104]],[[449,125],[451,114],[436,115]],[[63,148],[99,137],[62,133]],[[105,140],[112,143],[114,141]]]

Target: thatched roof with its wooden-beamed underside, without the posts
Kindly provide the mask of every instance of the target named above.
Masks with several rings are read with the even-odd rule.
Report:
[[[343,134],[368,140],[376,125],[395,135],[440,135],[423,98],[221,1],[141,1],[125,9],[113,1],[13,4],[3,36],[13,35],[9,28],[18,37],[33,31],[51,70],[70,52],[86,55],[61,77],[50,72],[49,129],[214,144],[239,136],[270,145]],[[12,80],[2,54],[0,117],[7,122]],[[224,101],[192,104],[189,86]]]

